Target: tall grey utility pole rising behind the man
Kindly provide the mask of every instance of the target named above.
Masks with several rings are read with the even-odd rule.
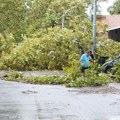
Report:
[[[93,38],[92,38],[92,52],[95,55],[96,52],[96,10],[97,0],[93,0]]]

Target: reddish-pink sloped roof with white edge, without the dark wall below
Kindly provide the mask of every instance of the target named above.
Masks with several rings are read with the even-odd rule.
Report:
[[[114,30],[120,28],[120,15],[107,15],[101,18],[97,18],[97,21],[106,23],[108,30]]]

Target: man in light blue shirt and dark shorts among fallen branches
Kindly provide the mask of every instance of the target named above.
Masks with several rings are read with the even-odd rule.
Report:
[[[87,51],[85,54],[83,54],[80,58],[81,61],[81,72],[83,73],[83,76],[86,77],[86,69],[89,67],[89,61],[93,62],[93,59],[90,56],[90,51]]]

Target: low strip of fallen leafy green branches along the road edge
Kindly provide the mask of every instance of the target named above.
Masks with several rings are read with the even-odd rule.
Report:
[[[98,66],[97,66],[98,67]],[[8,81],[17,81],[30,84],[52,84],[52,85],[65,85],[67,87],[90,87],[102,86],[108,83],[120,82],[119,69],[120,66],[116,65],[110,73],[101,73],[102,67],[96,69],[96,65],[88,70],[88,76],[82,77],[80,67],[68,68],[64,76],[36,76],[25,77],[21,72],[15,71],[12,74],[4,75],[2,79]],[[69,71],[69,72],[68,72]],[[101,74],[100,74],[101,73]],[[113,74],[111,74],[113,73]]]

